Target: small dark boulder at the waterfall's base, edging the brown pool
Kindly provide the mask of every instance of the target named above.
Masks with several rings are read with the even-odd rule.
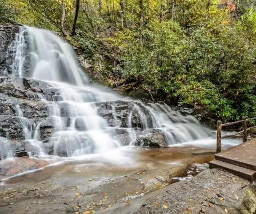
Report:
[[[163,133],[153,133],[151,135],[143,136],[135,141],[135,146],[143,147],[166,147],[168,143],[165,140]]]

